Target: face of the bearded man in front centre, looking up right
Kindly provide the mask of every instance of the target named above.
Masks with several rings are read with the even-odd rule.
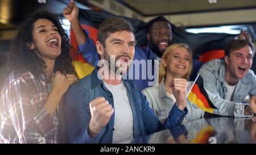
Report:
[[[133,32],[119,31],[109,35],[105,40],[105,47],[97,41],[97,51],[101,58],[107,60],[110,65],[115,66],[114,73],[119,70],[121,74],[127,72],[128,66],[134,57],[135,52],[135,37]],[[112,59],[113,60],[110,60]],[[114,64],[113,64],[114,63]]]

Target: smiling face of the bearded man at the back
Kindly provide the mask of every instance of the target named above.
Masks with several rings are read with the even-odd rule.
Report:
[[[163,52],[172,43],[172,29],[170,23],[159,21],[152,24],[150,33],[147,35],[150,47],[154,53],[162,57]]]

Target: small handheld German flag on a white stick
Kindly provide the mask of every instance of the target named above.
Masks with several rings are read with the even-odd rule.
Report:
[[[203,78],[198,74],[195,82],[193,83],[191,90],[187,96],[188,100],[196,104],[201,110],[213,113],[214,109],[217,109],[210,101],[207,92],[204,89]]]

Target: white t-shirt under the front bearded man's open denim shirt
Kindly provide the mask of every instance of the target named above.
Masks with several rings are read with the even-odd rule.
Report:
[[[133,140],[133,113],[123,82],[119,85],[109,85],[106,88],[114,98],[114,131],[113,143],[130,143]]]

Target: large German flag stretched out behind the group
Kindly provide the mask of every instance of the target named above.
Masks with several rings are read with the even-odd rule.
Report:
[[[82,28],[89,32],[89,37],[96,41],[97,29],[100,24],[110,17],[117,17],[117,15],[111,14],[105,11],[93,11],[79,9],[79,20]],[[135,37],[138,47],[144,47],[147,45],[147,26],[150,22],[143,22],[142,20],[135,18],[127,18],[125,16],[118,16],[128,20],[135,29]],[[158,18],[158,17],[156,17]],[[154,18],[155,19],[155,18]],[[152,20],[154,20],[152,19]],[[224,49],[226,45],[236,37],[236,35],[230,35],[226,33],[190,33],[184,31],[181,28],[176,27],[170,23],[172,27],[172,43],[185,43],[192,48],[193,58],[196,60],[193,62],[193,72],[191,74],[191,80],[196,78],[197,70],[200,66],[213,58],[223,58]],[[200,41],[199,41],[200,40]],[[76,47],[75,36],[71,32],[71,43],[73,47]],[[81,54],[73,58],[75,62],[75,69],[79,78],[82,78],[94,69],[95,64],[90,65]],[[95,62],[97,64],[97,62]]]

